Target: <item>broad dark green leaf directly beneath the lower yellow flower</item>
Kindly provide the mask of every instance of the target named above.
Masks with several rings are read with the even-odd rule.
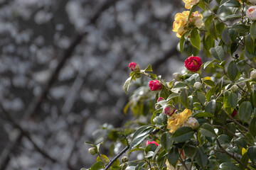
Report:
[[[193,137],[193,129],[189,127],[181,127],[178,128],[174,134],[172,135],[172,139],[175,142],[186,142],[187,140],[190,140],[191,137]]]

